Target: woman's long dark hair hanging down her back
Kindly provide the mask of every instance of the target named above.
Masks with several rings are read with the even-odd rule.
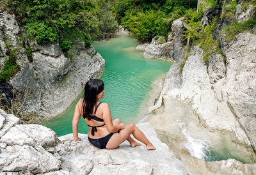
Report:
[[[104,90],[104,82],[98,79],[88,80],[84,86],[83,116],[89,120],[93,116],[93,108],[97,104],[97,95]],[[85,107],[86,106],[86,107]]]

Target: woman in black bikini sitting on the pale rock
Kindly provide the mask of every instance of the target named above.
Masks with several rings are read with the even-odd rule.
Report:
[[[141,144],[134,141],[132,135],[143,142],[147,149],[156,149],[147,137],[133,123],[124,125],[118,118],[111,118],[108,103],[99,102],[104,97],[104,83],[102,80],[89,80],[84,87],[84,98],[77,102],[73,120],[72,130],[74,139],[81,140],[77,133],[77,124],[81,116],[89,126],[88,140],[97,148],[115,149],[125,140],[129,141],[131,147],[140,146]]]

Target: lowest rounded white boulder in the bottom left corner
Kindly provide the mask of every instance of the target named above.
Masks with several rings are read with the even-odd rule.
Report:
[[[55,171],[61,162],[42,147],[24,145],[1,149],[1,171],[29,171],[32,173]]]

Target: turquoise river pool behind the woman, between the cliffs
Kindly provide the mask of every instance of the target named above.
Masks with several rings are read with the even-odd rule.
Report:
[[[169,61],[147,59],[135,47],[140,43],[126,35],[116,36],[107,42],[94,42],[93,47],[104,57],[105,70],[100,77],[104,81],[104,98],[100,102],[109,103],[112,118],[120,118],[124,123],[136,123],[140,107],[145,106],[151,84],[168,72]],[[83,94],[79,96],[81,98]],[[72,133],[72,117],[77,101],[58,118],[40,123],[51,128],[58,136]],[[78,124],[79,133],[88,133],[83,117]]]

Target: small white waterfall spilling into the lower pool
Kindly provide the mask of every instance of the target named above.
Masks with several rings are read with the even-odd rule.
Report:
[[[179,125],[182,133],[187,139],[186,142],[182,142],[180,144],[180,148],[186,149],[187,151],[189,151],[190,155],[195,158],[206,158],[207,156],[205,155],[205,153],[209,151],[209,142],[207,142],[205,138],[194,139],[193,137],[191,137],[188,130],[186,129],[186,123],[177,121],[177,125]]]

